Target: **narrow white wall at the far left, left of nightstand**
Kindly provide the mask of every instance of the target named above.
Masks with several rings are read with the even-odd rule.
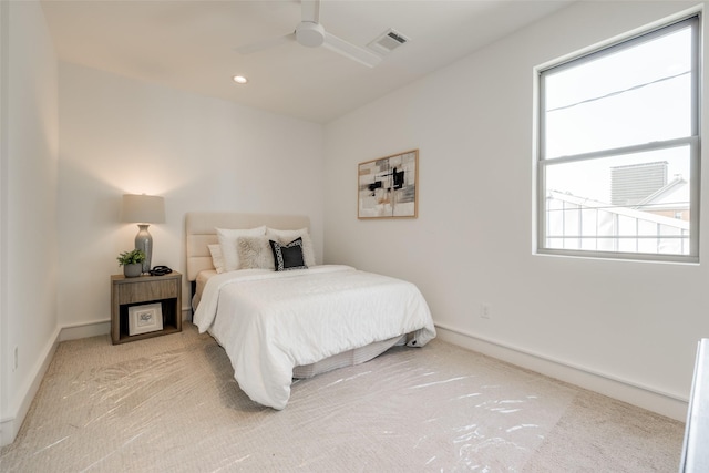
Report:
[[[3,1],[0,9],[0,443],[4,444],[21,425],[58,337],[58,100],[56,58],[41,7]]]

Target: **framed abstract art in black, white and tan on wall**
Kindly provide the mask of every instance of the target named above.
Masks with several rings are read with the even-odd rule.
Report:
[[[358,165],[357,218],[419,216],[419,150]]]

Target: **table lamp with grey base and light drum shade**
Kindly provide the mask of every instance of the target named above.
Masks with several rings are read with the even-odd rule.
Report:
[[[150,224],[165,223],[165,199],[155,195],[124,194],[121,220],[137,224],[138,233],[135,236],[135,248],[142,249],[145,254],[143,274],[150,273],[153,237],[147,232],[147,227]]]

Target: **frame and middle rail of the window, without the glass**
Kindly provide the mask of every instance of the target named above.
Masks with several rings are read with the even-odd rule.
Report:
[[[680,138],[659,141],[646,144],[638,144],[625,147],[615,147],[590,153],[582,153],[572,156],[546,158],[545,156],[545,73],[549,71],[558,71],[582,64],[588,60],[597,59],[600,55],[617,52],[648,40],[653,40],[661,34],[666,34],[671,29],[692,28],[692,74],[691,74],[691,135]],[[612,45],[603,47],[598,50],[579,54],[563,62],[540,68],[536,70],[537,80],[537,120],[538,126],[536,131],[537,150],[536,150],[536,253],[559,256],[575,256],[587,258],[609,258],[609,259],[630,259],[647,261],[676,261],[676,263],[699,263],[699,204],[700,204],[700,84],[701,84],[701,16],[692,13],[680,20],[675,20],[654,28],[651,30],[639,33],[630,39],[618,41]],[[547,208],[546,208],[546,182],[545,171],[548,166],[558,164],[568,164],[582,162],[586,160],[605,158],[608,156],[627,155],[638,152],[648,152],[664,148],[671,148],[678,145],[687,145],[690,150],[690,220],[689,220],[689,253],[687,255],[674,254],[648,254],[648,253],[623,253],[623,251],[602,251],[588,249],[558,249],[546,247],[547,243]]]

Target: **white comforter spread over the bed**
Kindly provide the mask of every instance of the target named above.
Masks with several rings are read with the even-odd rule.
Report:
[[[225,348],[242,390],[274,409],[286,407],[296,366],[403,333],[418,347],[435,337],[413,284],[340,265],[214,276],[194,322]]]

